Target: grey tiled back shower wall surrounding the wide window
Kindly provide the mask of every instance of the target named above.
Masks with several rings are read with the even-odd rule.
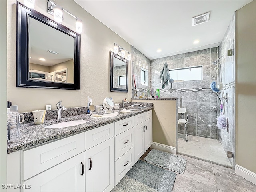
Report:
[[[211,110],[217,106],[217,96],[210,90],[210,83],[214,80],[216,71],[212,61],[217,59],[217,48],[208,48],[183,54],[176,54],[164,58],[150,60],[150,88],[160,89],[162,84],[158,79],[164,63],[167,62],[168,68],[184,68],[190,66],[203,66],[202,80],[174,82],[174,92],[169,93],[170,84],[160,91],[160,97],[178,97],[178,106],[180,106],[180,97],[182,96],[182,106],[187,109],[189,115],[187,132],[191,135],[202,136],[206,138],[218,138],[216,126],[217,111]],[[172,77],[170,77],[172,78]],[[178,118],[181,115],[178,114]],[[184,133],[184,126],[178,125],[178,132]]]

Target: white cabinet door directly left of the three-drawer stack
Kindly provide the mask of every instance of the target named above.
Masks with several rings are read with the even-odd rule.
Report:
[[[85,161],[86,191],[111,191],[115,177],[114,137],[85,151]]]

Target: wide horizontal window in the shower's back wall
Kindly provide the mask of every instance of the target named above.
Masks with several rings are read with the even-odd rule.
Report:
[[[202,80],[203,66],[178,68],[169,70],[170,78],[174,81]]]

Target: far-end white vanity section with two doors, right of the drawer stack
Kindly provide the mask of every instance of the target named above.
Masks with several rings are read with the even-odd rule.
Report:
[[[134,116],[134,163],[152,144],[152,110]]]

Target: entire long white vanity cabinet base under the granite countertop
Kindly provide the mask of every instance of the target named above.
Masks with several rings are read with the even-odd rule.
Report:
[[[8,154],[7,184],[33,192],[109,192],[152,144],[152,110]]]

